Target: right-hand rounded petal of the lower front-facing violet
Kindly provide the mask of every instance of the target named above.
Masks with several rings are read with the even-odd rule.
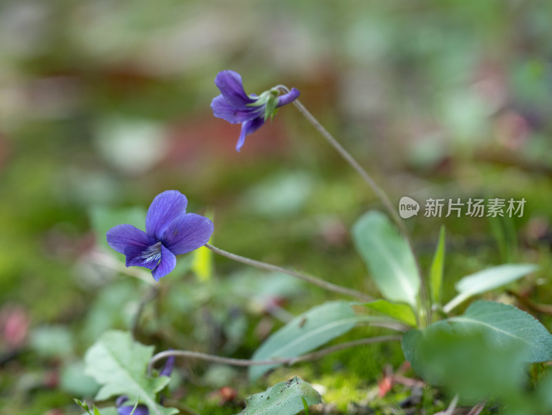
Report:
[[[176,218],[164,229],[161,241],[175,255],[193,251],[209,242],[213,222],[195,213]]]

